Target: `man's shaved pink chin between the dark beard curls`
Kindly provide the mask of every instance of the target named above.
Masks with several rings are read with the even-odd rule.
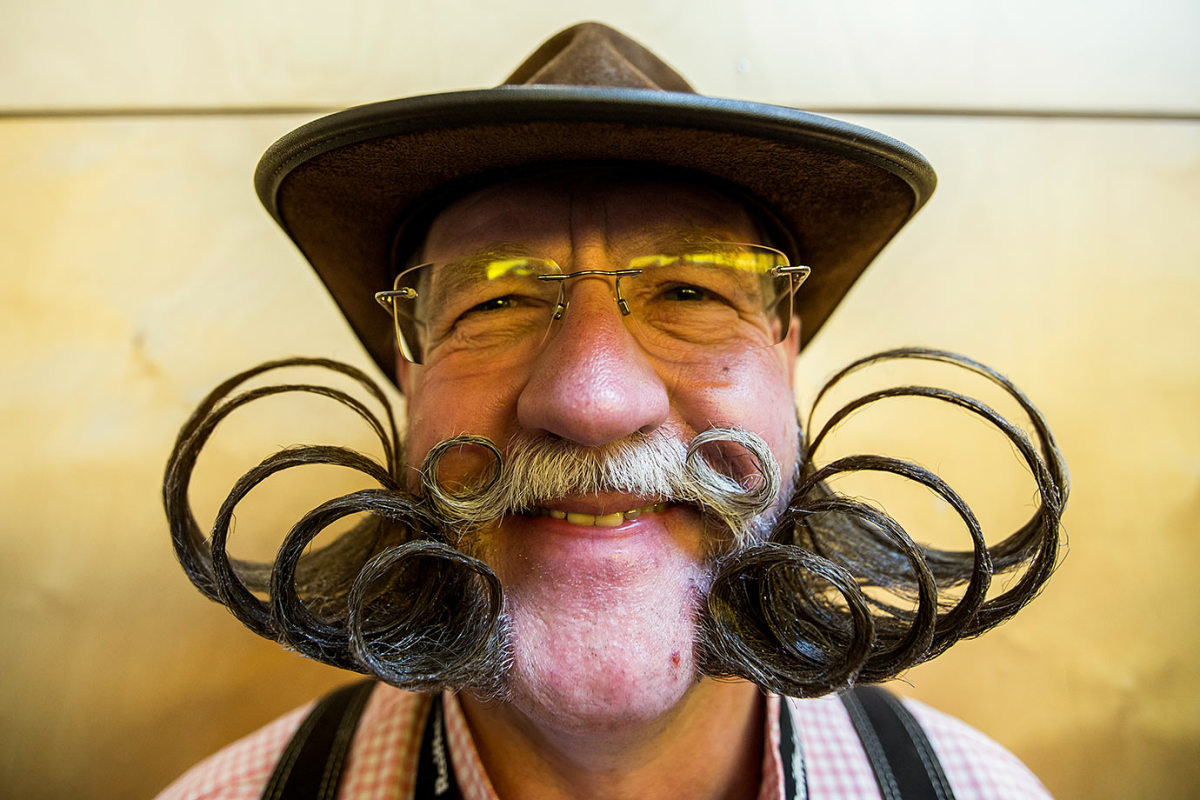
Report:
[[[638,528],[582,542],[527,530],[488,548],[511,634],[505,694],[530,721],[564,734],[644,727],[696,685],[709,566],[674,525]]]

